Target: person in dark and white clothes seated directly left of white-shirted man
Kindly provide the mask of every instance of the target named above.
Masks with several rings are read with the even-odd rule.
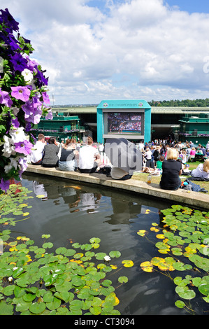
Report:
[[[75,172],[78,168],[79,152],[76,150],[75,139],[67,139],[66,144],[62,147],[59,158],[59,170],[63,172]]]

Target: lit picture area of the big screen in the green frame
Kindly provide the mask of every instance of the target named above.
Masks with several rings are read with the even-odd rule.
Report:
[[[142,115],[108,113],[108,134],[142,134]]]

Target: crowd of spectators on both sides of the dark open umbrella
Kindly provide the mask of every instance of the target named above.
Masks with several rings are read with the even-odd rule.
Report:
[[[180,185],[180,175],[188,174],[193,177],[209,180],[209,142],[204,148],[199,144],[196,148],[192,142],[155,140],[143,144],[137,144],[137,148],[142,153],[142,172],[161,176],[160,187],[165,190],[177,190]],[[188,161],[196,156],[202,155],[203,163],[196,169],[189,170]],[[104,161],[105,159],[105,161]],[[32,149],[29,162],[32,165],[42,165],[43,167],[57,167],[61,171],[80,173],[99,172],[99,168],[108,165],[112,167],[113,179],[130,179],[131,175],[122,173],[111,166],[110,160],[103,153],[103,144],[94,143],[92,137],[87,137],[82,143],[75,139],[66,139],[66,142],[58,143],[54,137],[45,140],[43,134],[38,135],[38,139]],[[120,172],[119,172],[120,170]]]

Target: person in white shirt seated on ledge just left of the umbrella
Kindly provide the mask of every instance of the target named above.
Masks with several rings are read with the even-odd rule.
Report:
[[[92,144],[92,137],[87,137],[87,145],[80,148],[78,169],[81,173],[96,172],[99,165],[99,151]]]

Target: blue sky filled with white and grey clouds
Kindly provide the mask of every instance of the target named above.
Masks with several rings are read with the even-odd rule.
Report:
[[[52,105],[209,98],[208,0],[0,0]]]

